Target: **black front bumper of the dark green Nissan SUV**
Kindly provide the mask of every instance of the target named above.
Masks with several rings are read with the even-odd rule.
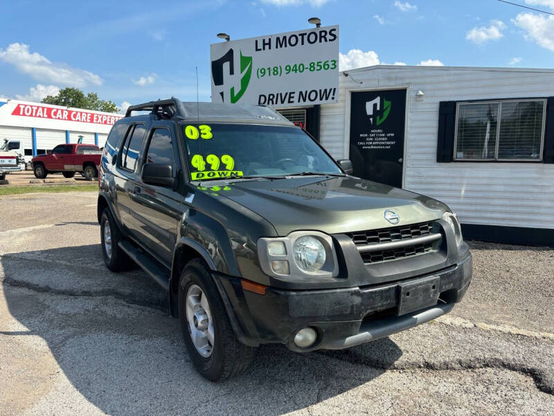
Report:
[[[425,309],[397,315],[400,284],[438,277],[439,300]],[[386,284],[314,291],[283,291],[268,287],[265,295],[243,291],[240,279],[218,275],[249,345],[283,343],[296,352],[343,349],[384,338],[434,320],[452,310],[472,278],[472,257],[443,270]],[[312,327],[318,340],[299,348],[294,335]]]

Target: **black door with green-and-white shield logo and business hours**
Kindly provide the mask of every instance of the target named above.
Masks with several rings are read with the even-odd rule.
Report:
[[[402,187],[406,89],[352,92],[350,160],[354,175]]]

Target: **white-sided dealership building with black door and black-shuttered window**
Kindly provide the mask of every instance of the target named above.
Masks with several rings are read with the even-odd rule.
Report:
[[[554,245],[554,70],[381,65],[339,77],[317,137],[333,157],[447,203],[466,238]]]

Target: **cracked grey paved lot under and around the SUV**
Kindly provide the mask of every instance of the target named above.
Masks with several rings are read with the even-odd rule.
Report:
[[[472,242],[439,320],[344,352],[261,347],[197,375],[165,294],[102,262],[96,193],[0,198],[2,415],[554,415],[554,250]]]

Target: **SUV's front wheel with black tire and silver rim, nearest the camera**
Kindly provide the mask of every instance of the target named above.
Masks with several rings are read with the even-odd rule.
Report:
[[[193,297],[196,302],[190,302],[189,297]],[[190,315],[193,315],[192,319],[188,318]],[[205,318],[195,319],[204,315],[208,317],[207,324]],[[211,272],[202,260],[189,261],[181,272],[179,320],[190,360],[197,372],[206,379],[224,381],[247,370],[256,349],[242,344],[235,336]],[[201,349],[193,342],[193,328],[196,323],[197,327],[207,327],[206,331],[196,329],[201,333],[197,339],[207,343],[207,347]],[[209,336],[210,327],[213,344]]]

